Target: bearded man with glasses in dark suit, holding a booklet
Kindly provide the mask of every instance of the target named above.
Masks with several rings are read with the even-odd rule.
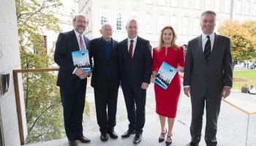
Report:
[[[76,15],[73,19],[74,30],[59,34],[56,42],[54,61],[59,65],[57,85],[61,92],[61,102],[64,112],[64,126],[69,139],[69,145],[78,145],[80,142],[90,142],[83,137],[83,109],[86,98],[87,78],[90,74],[83,72],[74,66],[72,52],[78,50],[89,50],[90,40],[83,36],[88,20],[85,15]]]

